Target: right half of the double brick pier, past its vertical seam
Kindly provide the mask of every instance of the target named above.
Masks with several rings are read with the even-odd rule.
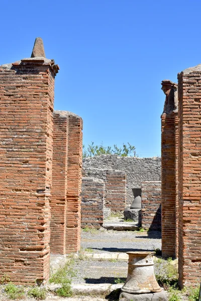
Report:
[[[69,113],[66,253],[76,252],[80,248],[82,127],[82,119]]]

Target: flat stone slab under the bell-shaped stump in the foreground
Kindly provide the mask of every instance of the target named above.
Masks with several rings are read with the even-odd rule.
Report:
[[[167,293],[164,290],[139,294],[121,292],[119,297],[119,301],[167,301],[167,299]]]

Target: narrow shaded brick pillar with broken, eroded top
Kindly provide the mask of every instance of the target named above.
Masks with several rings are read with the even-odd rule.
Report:
[[[164,80],[161,84],[166,95],[164,111],[161,115],[162,256],[174,258],[177,244],[177,85],[169,80]]]

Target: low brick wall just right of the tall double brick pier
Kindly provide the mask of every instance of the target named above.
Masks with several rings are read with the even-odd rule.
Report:
[[[103,180],[82,177],[81,227],[100,228],[104,221]]]

